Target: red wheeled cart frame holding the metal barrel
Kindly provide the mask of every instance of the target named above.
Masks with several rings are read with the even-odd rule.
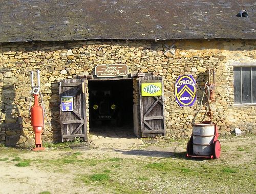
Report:
[[[203,121],[203,123],[209,123],[210,121]],[[211,123],[211,122],[210,122]],[[213,123],[215,126],[215,136],[214,136],[214,142],[212,144],[212,153],[211,155],[196,155],[193,154],[193,135],[190,137],[189,141],[187,142],[187,157],[191,158],[203,158],[203,159],[218,159],[220,157],[221,153],[221,146],[220,141],[218,140],[219,133],[218,133],[218,127],[215,123]],[[218,143],[217,143],[218,141]]]

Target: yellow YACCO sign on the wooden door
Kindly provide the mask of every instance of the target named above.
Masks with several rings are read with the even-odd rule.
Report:
[[[142,96],[162,96],[162,83],[141,83]]]

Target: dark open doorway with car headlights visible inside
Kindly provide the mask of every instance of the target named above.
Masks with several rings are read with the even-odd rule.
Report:
[[[89,80],[90,131],[133,131],[133,80]]]

